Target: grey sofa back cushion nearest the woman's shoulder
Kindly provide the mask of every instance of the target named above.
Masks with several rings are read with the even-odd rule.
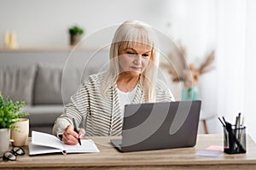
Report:
[[[80,84],[79,68],[65,68],[56,64],[38,64],[35,79],[34,105],[63,105],[76,92]]]

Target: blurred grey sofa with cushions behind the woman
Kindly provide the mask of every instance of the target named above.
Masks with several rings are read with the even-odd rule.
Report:
[[[4,97],[26,102],[22,111],[29,113],[30,135],[32,130],[52,133],[63,105],[79,88],[82,71],[63,68],[63,65],[49,63],[0,67],[0,91]],[[87,71],[88,75],[92,73]]]

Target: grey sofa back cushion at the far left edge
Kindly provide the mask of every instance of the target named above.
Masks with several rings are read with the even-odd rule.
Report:
[[[0,68],[0,91],[10,99],[32,104],[32,91],[37,67],[35,65],[8,65]]]

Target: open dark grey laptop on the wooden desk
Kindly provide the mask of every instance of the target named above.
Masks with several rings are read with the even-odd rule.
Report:
[[[193,147],[201,100],[125,105],[122,138],[110,142],[119,151]]]

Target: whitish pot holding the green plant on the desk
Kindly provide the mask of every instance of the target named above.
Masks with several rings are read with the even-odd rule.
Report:
[[[9,150],[9,128],[0,128],[0,157],[3,157],[3,153]]]

